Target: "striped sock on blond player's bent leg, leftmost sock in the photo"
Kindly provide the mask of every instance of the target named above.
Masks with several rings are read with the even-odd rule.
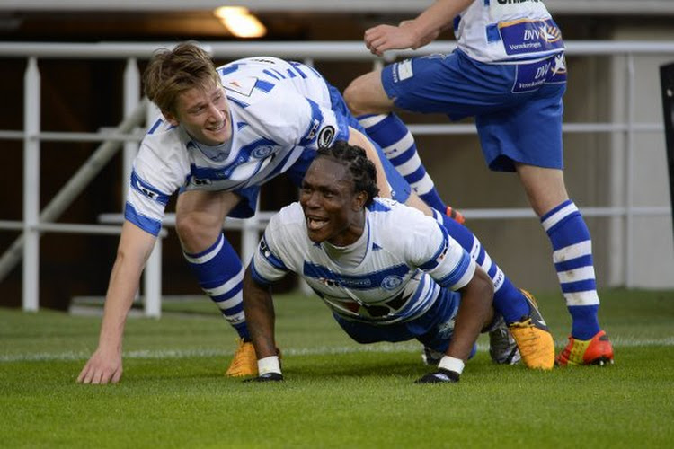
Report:
[[[244,318],[244,266],[239,256],[220,233],[217,241],[206,251],[182,253],[201,289],[217,304],[222,316],[234,327],[239,337],[249,339]]]

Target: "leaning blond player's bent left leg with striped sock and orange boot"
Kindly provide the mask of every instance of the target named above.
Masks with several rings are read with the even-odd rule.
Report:
[[[244,318],[244,267],[222,233],[225,216],[240,199],[232,192],[183,192],[176,205],[176,231],[201,289],[239,335],[239,347],[226,374],[255,375],[256,357]]]

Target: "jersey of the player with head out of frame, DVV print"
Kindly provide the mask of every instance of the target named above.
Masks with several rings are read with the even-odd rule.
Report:
[[[543,0],[474,0],[454,21],[458,48],[480,62],[543,58],[564,49]]]

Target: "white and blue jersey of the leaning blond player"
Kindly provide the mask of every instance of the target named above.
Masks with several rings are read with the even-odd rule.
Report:
[[[285,172],[303,152],[348,140],[347,118],[332,109],[328,84],[315,69],[276,57],[218,67],[232,138],[203,145],[163,117],[140,146],[126,218],[157,235],[164,207],[178,189],[238,190]]]

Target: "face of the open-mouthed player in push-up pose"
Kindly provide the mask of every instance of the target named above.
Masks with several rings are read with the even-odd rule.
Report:
[[[309,239],[336,246],[356,242],[363,233],[365,200],[365,192],[353,193],[346,167],[325,157],[316,159],[299,193]]]

